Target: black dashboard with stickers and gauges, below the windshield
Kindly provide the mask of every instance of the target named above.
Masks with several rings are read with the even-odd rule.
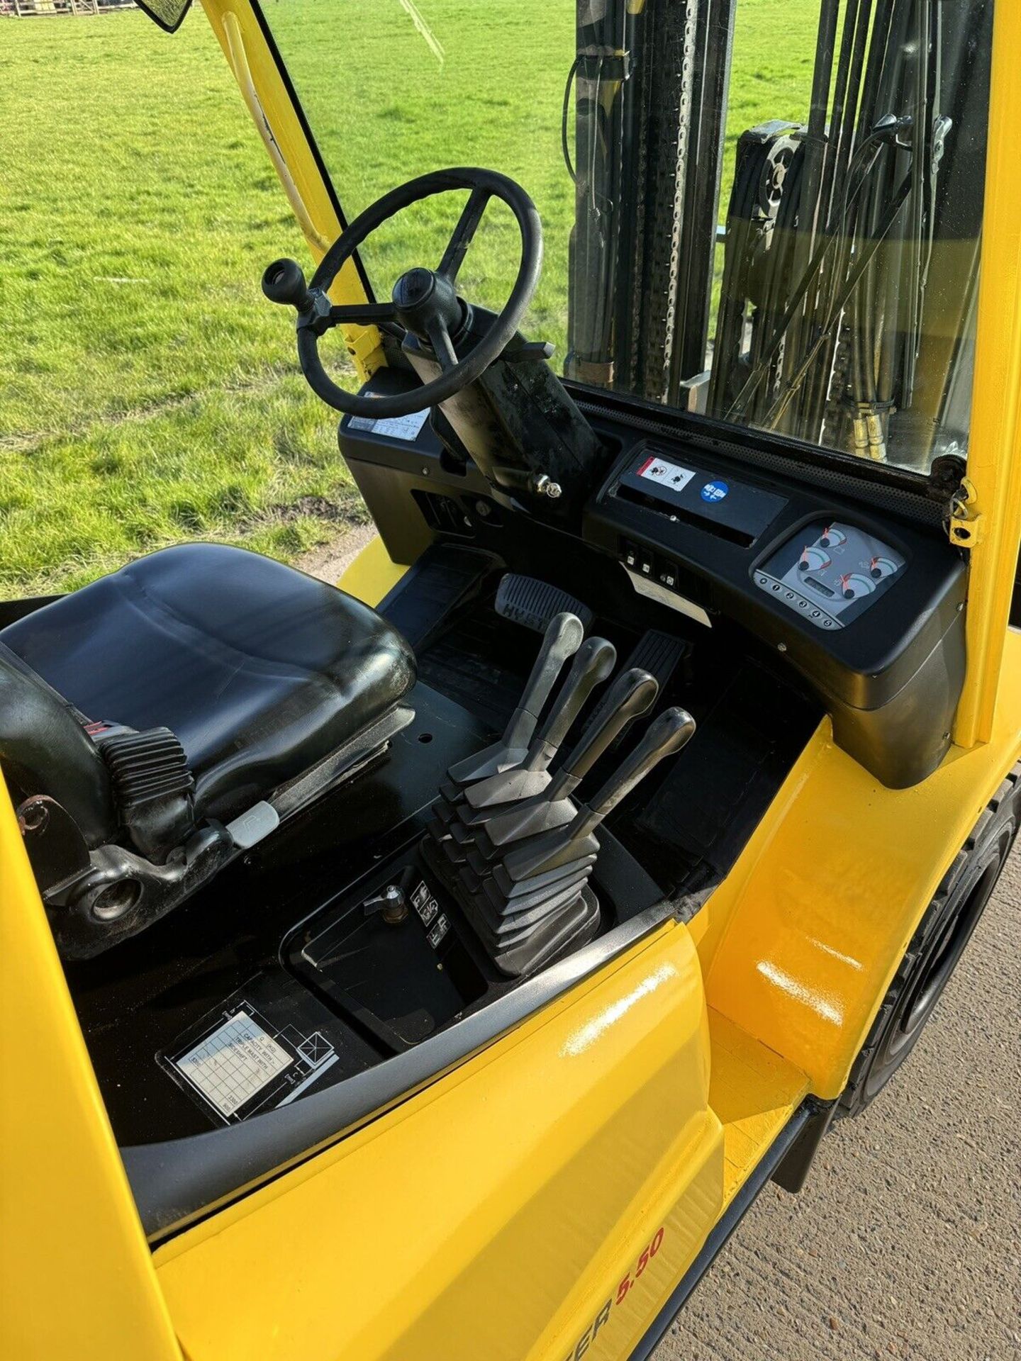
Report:
[[[933,508],[877,506],[854,476],[825,485],[690,430],[585,414],[606,456],[569,525],[494,501],[430,421],[395,434],[346,419],[339,444],[395,561],[460,540],[581,599],[598,592],[598,612],[626,618],[641,602],[708,638],[743,629],[803,676],[837,743],[884,784],[926,778],[949,749],[965,670],[967,568]]]

